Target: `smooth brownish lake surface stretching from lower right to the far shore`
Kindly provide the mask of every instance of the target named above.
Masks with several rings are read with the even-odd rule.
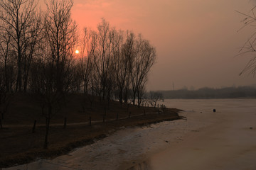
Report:
[[[255,98],[170,99],[161,104],[183,109],[191,132],[131,169],[256,169]],[[203,128],[196,128],[202,123]]]

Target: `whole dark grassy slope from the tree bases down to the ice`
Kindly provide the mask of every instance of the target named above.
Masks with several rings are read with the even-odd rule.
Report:
[[[0,130],[0,167],[26,164],[39,157],[57,157],[75,147],[100,140],[121,127],[179,118],[179,110],[175,108],[159,114],[159,108],[138,108],[114,101],[107,107],[105,102],[100,102],[97,98],[91,107],[87,99],[82,94],[73,94],[67,98],[68,104],[63,106],[62,111],[56,113],[51,121],[49,147],[43,149],[45,118],[41,115],[40,103],[28,94],[16,94],[12,98],[9,112],[4,115],[4,129]],[[85,103],[85,111],[82,103]],[[106,120],[103,123],[105,108]],[[129,113],[131,118],[128,118]],[[90,116],[92,125],[88,122]],[[67,118],[66,128],[63,128],[64,118]],[[37,126],[36,132],[32,133],[34,120],[37,120]]]

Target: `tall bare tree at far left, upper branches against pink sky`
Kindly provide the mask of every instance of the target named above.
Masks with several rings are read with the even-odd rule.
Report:
[[[31,27],[30,21],[36,13],[36,5],[35,0],[2,0],[0,2],[0,20],[4,22],[6,27],[11,28],[8,33],[14,40],[11,45],[14,48],[18,67],[16,91],[22,89],[22,60],[26,47],[24,36],[28,33],[28,28]]]

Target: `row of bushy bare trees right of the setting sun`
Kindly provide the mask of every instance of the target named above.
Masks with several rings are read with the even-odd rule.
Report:
[[[149,70],[156,59],[156,50],[142,35],[110,28],[102,19],[97,30],[85,28],[78,61],[83,91],[96,93],[108,101],[128,101],[132,93],[140,102]]]

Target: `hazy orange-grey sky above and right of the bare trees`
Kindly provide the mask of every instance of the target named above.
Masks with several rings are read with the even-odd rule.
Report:
[[[80,28],[95,28],[104,17],[111,26],[142,33],[156,47],[157,62],[148,90],[256,84],[239,73],[250,57],[239,47],[252,29],[243,29],[239,13],[249,0],[74,0],[73,19]]]

